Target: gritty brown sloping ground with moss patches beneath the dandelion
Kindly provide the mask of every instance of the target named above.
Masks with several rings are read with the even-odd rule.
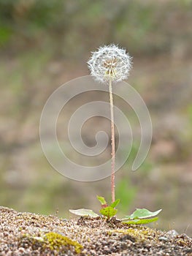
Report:
[[[192,255],[192,238],[101,217],[61,219],[0,207],[0,255]]]

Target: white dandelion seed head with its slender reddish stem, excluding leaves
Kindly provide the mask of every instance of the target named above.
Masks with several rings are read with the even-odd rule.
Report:
[[[111,194],[112,202],[115,202],[115,129],[112,99],[112,83],[120,82],[128,78],[131,69],[131,57],[125,49],[116,45],[105,45],[92,53],[88,61],[91,75],[100,83],[109,84],[110,90],[110,113],[111,113],[111,145],[112,145],[112,173]]]

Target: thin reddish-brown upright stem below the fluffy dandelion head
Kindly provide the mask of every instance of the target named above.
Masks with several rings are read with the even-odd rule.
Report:
[[[110,110],[111,110],[111,145],[112,145],[112,173],[111,173],[111,195],[112,203],[115,202],[115,129],[112,99],[112,80],[109,81],[110,88]]]

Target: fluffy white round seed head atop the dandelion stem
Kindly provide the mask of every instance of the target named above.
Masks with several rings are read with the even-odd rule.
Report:
[[[131,56],[116,45],[104,45],[92,53],[88,61],[91,75],[101,83],[120,82],[128,78],[132,66]]]

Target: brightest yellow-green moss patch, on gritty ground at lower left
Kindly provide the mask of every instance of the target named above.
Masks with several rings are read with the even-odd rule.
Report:
[[[50,249],[56,249],[59,251],[59,249],[62,246],[69,247],[74,246],[74,250],[76,253],[80,253],[82,246],[77,243],[76,241],[73,241],[72,239],[62,236],[61,234],[50,232],[45,234],[45,242],[47,246],[50,247]]]

